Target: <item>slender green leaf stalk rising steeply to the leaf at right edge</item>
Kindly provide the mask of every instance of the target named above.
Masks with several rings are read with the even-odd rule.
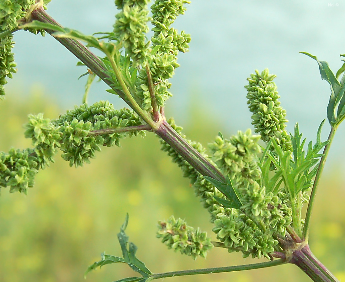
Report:
[[[308,238],[308,235],[309,235],[309,224],[310,224],[310,219],[311,219],[311,215],[313,212],[313,207],[314,207],[314,202],[315,202],[315,197],[316,197],[316,191],[317,191],[317,185],[320,181],[320,177],[321,177],[322,171],[323,171],[324,166],[325,166],[325,162],[326,162],[326,158],[327,158],[327,155],[329,152],[329,148],[331,147],[331,143],[333,141],[333,138],[334,138],[336,131],[337,131],[337,125],[335,127],[332,127],[331,132],[329,132],[329,136],[327,139],[329,142],[325,146],[325,149],[323,151],[323,156],[321,157],[319,167],[318,167],[317,172],[316,172],[316,176],[315,176],[312,192],[310,194],[310,200],[308,203],[308,208],[307,208],[307,212],[306,212],[306,216],[305,216],[305,223],[304,223],[304,228],[303,228],[303,240]]]

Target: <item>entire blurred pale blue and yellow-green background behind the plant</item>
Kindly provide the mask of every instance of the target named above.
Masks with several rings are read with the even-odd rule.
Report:
[[[61,24],[91,34],[111,30],[116,11],[113,0],[53,0],[48,12]],[[275,82],[290,120],[288,130],[298,121],[304,136],[315,140],[326,115],[329,85],[321,80],[316,62],[298,52],[310,52],[337,70],[338,55],[345,53],[344,13],[344,0],[192,0],[175,24],[190,33],[192,41],[190,53],[180,54],[181,67],[171,80],[174,97],[167,102],[167,117],[174,116],[189,138],[204,145],[219,130],[224,136],[246,130],[250,112],[245,79],[254,69],[268,67],[277,74]],[[75,68],[78,60],[55,39],[16,32],[14,40],[18,73],[6,86],[6,100],[0,102],[0,151],[30,146],[22,128],[27,114],[44,112],[56,118],[80,103],[86,80],[77,81],[86,70]],[[89,101],[109,99],[116,108],[124,107],[105,88],[104,83],[93,84]],[[327,138],[327,125],[323,136]],[[342,125],[320,184],[309,239],[315,255],[341,281],[345,281],[344,138]],[[87,266],[98,261],[101,252],[121,254],[116,234],[126,212],[130,240],[152,272],[258,262],[223,249],[213,249],[206,260],[193,261],[167,250],[155,238],[157,221],[171,214],[214,234],[188,180],[159,150],[157,137],[149,134],[145,139],[123,140],[121,148],[104,148],[82,168],[69,168],[57,156],[51,167],[40,171],[27,196],[3,189],[0,282],[84,281]],[[107,265],[90,273],[86,281],[131,275],[126,265]],[[309,281],[293,265],[168,280],[273,279]]]

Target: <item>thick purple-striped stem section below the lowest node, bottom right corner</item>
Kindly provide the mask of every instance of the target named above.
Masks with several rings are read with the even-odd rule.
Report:
[[[339,282],[334,275],[315,258],[308,245],[294,251],[289,263],[297,265],[314,282]]]

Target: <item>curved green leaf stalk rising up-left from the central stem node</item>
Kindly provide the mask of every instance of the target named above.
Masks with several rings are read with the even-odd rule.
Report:
[[[115,72],[116,75],[116,79],[119,82],[119,84],[121,85],[122,90],[125,93],[125,97],[127,98],[127,100],[129,101],[129,103],[131,104],[131,108],[134,109],[139,115],[140,117],[146,121],[149,125],[151,125],[151,127],[153,129],[158,129],[159,124],[157,124],[156,122],[154,122],[151,117],[148,115],[147,112],[143,111],[140,106],[138,105],[138,103],[135,101],[135,99],[133,98],[132,94],[129,92],[127,85],[125,83],[125,81],[122,79],[122,75],[121,72],[119,70],[119,68],[116,66],[116,63],[114,61],[114,56],[112,56],[112,54],[110,54],[106,48],[103,49],[103,51],[105,52],[105,54],[107,55],[110,63],[111,63],[111,67]]]

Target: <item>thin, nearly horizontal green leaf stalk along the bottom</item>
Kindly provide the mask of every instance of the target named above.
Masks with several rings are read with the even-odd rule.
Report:
[[[158,273],[152,276],[153,279],[160,279],[166,277],[175,277],[175,276],[185,276],[185,275],[196,275],[196,274],[211,274],[211,273],[220,273],[220,272],[233,272],[241,270],[251,270],[266,268],[270,266],[276,266],[286,263],[285,260],[275,260],[262,263],[254,264],[245,264],[245,265],[236,265],[236,266],[225,266],[225,267],[216,267],[216,268],[204,268],[204,269],[193,269],[193,270],[181,270],[181,271],[171,271],[165,273]]]

